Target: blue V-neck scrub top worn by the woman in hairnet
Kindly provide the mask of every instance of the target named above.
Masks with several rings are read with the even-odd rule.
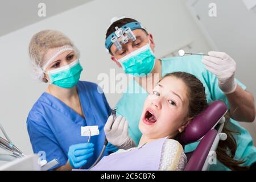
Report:
[[[47,162],[57,159],[59,165],[54,168],[67,163],[69,146],[87,142],[88,137],[81,137],[81,126],[97,125],[100,130],[100,135],[90,138],[90,143],[94,143],[94,154],[83,168],[89,168],[95,162],[104,145],[104,125],[111,113],[105,95],[92,82],[79,81],[76,86],[85,118],[46,92],[35,102],[27,117],[34,153],[44,151]],[[109,153],[105,151],[104,155]]]

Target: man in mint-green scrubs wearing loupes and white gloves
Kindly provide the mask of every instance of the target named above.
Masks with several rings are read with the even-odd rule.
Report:
[[[130,28],[135,38],[131,36],[131,32],[119,35],[121,31],[117,27],[123,30]],[[118,41],[112,42],[115,40],[114,36],[117,37],[117,35],[119,35]],[[123,40],[127,38],[129,38],[128,41],[124,42]],[[253,146],[253,139],[250,133],[237,122],[254,121],[254,97],[245,90],[246,86],[234,77],[236,62],[232,57],[224,52],[211,51],[208,53],[209,56],[204,57],[192,55],[157,59],[154,55],[155,43],[152,34],[149,34],[137,20],[124,17],[112,19],[112,24],[106,32],[105,47],[118,67],[133,76],[126,92],[117,103],[117,115],[122,115],[129,123],[130,137],[126,137],[126,140],[121,140],[120,143],[115,143],[115,146],[129,148],[134,147],[134,143],[138,144],[142,135],[138,124],[148,93],[152,93],[154,85],[166,73],[181,71],[191,73],[199,78],[205,87],[208,103],[223,100],[229,107],[231,118],[227,125],[230,130],[240,133],[239,135],[234,134],[237,143],[234,158],[243,160],[245,162],[243,166],[252,166],[256,162],[256,148]],[[108,126],[108,122],[106,126]],[[109,133],[106,132],[108,141],[110,143],[112,139],[114,141],[114,134],[111,133],[111,130],[105,131]],[[121,131],[115,131],[115,133],[127,133],[125,129],[121,129]],[[187,145],[185,152],[193,151],[195,147],[195,144]],[[210,170],[229,170],[229,168],[217,161],[216,165],[210,166]]]

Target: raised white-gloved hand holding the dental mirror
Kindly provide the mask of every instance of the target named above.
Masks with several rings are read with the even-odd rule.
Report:
[[[233,93],[237,88],[234,77],[236,62],[225,52],[208,52],[209,56],[203,57],[203,64],[218,78],[218,86],[225,94]]]

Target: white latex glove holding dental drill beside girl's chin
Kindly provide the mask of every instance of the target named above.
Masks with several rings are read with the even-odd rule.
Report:
[[[108,142],[112,143],[117,148],[127,150],[131,147],[136,147],[135,142],[128,134],[128,122],[121,115],[115,120],[113,115],[110,115],[104,127],[104,131]]]

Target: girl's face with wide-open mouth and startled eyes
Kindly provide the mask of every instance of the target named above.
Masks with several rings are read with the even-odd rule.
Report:
[[[168,76],[159,82],[146,98],[139,129],[150,139],[174,138],[187,126],[189,118],[187,86]]]

